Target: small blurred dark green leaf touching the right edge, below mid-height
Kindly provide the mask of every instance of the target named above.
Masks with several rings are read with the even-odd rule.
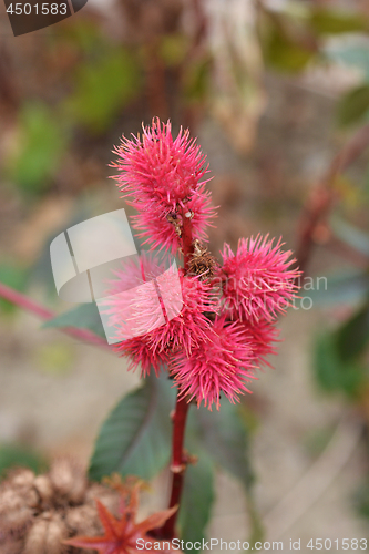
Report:
[[[336,331],[337,351],[344,361],[355,360],[369,343],[369,304],[366,302]]]

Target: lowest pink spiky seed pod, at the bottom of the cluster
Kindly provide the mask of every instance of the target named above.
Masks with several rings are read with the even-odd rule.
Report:
[[[239,394],[250,392],[246,382],[256,377],[252,343],[239,322],[226,321],[222,316],[206,335],[189,357],[183,351],[174,356],[170,372],[183,397],[196,399],[197,406],[204,401],[212,410],[213,404],[219,409],[222,393],[230,402],[238,402]]]

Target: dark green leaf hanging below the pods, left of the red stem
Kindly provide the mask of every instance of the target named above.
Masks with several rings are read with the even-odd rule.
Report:
[[[167,377],[145,379],[103,423],[90,462],[90,478],[139,475],[151,479],[170,462],[174,390]]]

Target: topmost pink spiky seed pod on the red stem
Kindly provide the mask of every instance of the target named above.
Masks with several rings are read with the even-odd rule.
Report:
[[[205,156],[188,130],[181,127],[173,138],[171,123],[156,117],[143,127],[142,137],[123,138],[115,153],[119,160],[112,166],[120,173],[114,178],[137,211],[133,227],[144,244],[176,252],[185,217],[192,219],[193,238],[207,238],[206,226],[216,213],[205,191],[209,179],[203,179],[208,173]]]

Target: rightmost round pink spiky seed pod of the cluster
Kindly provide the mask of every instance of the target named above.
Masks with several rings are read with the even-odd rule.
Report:
[[[234,320],[256,324],[273,321],[284,314],[296,298],[297,269],[290,269],[291,252],[281,250],[280,239],[274,245],[268,236],[242,238],[234,254],[229,245],[222,253],[223,266],[217,278],[222,281],[224,309]]]

